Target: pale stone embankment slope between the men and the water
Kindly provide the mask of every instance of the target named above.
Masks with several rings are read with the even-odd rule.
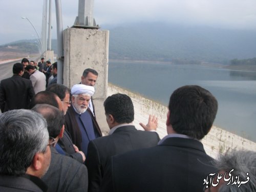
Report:
[[[167,135],[165,121],[168,109],[166,106],[109,83],[108,96],[115,93],[123,93],[132,98],[135,111],[133,123],[138,130],[143,130],[139,123],[147,123],[148,115],[152,114],[158,117],[157,133],[159,137],[163,138]],[[255,142],[225,131],[215,125],[212,126],[210,132],[201,141],[206,153],[213,158],[216,158],[219,153],[225,153],[230,148],[256,151]]]

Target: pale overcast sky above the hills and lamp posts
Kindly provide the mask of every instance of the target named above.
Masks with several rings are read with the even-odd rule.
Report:
[[[0,0],[0,45],[36,38],[29,18],[41,33],[43,0]],[[61,0],[63,29],[74,24],[78,0]],[[256,0],[95,0],[94,18],[99,26],[133,22],[207,25],[255,30]],[[56,38],[55,1],[52,1],[52,38]]]

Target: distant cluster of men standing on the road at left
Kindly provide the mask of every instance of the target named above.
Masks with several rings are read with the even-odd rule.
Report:
[[[27,58],[23,58],[21,63],[15,63],[13,76],[3,79],[0,83],[0,109],[2,113],[14,109],[29,109],[33,96],[46,90],[51,74],[53,79],[50,84],[57,82],[54,79],[57,74],[56,66],[57,62],[53,63],[52,67],[50,61],[44,62],[44,58],[41,58],[38,66],[34,61],[29,61]]]

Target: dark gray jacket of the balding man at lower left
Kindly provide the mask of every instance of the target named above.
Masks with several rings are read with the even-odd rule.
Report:
[[[48,192],[87,191],[88,173],[84,164],[60,155],[51,147],[51,163],[42,181],[47,183]]]

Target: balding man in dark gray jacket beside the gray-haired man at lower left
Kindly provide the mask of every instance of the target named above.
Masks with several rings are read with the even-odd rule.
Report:
[[[40,113],[47,121],[50,139],[57,143],[64,132],[64,116],[56,107],[49,104],[36,104],[32,109]],[[88,173],[84,164],[60,155],[55,145],[51,146],[51,163],[42,180],[48,184],[48,191],[87,191]]]

